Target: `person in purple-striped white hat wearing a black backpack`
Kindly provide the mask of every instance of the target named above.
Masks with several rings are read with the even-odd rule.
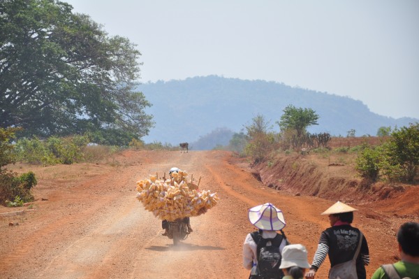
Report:
[[[272,272],[258,265],[258,256],[263,247],[274,246],[281,254],[289,244],[282,231],[286,224],[282,211],[272,203],[264,203],[250,208],[248,215],[251,224],[258,229],[247,234],[243,243],[243,266],[251,270],[249,278],[282,278],[284,273],[279,269],[281,258],[272,263]],[[277,231],[281,231],[281,234]]]

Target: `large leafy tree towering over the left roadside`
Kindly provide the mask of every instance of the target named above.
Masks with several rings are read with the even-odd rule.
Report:
[[[151,104],[134,90],[140,52],[72,9],[0,1],[0,127],[23,127],[27,136],[147,135]]]

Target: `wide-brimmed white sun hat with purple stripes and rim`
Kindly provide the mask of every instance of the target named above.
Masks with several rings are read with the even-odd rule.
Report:
[[[264,203],[249,209],[249,220],[258,229],[279,231],[285,227],[282,211],[272,203]]]

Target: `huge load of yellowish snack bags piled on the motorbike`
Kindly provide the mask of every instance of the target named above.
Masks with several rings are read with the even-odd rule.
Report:
[[[219,197],[210,190],[198,190],[198,185],[186,181],[187,176],[186,171],[179,171],[166,180],[157,176],[140,180],[137,199],[161,220],[174,221],[206,213],[218,203]]]

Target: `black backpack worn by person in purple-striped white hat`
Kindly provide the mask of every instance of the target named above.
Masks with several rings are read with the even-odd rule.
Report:
[[[251,274],[251,279],[280,279],[284,273],[279,269],[281,265],[281,251],[279,246],[286,236],[283,231],[274,238],[263,238],[262,231],[253,231],[251,234],[253,241],[257,245],[256,255],[258,255],[258,264],[256,265],[256,274]],[[287,245],[288,245],[288,241]]]

